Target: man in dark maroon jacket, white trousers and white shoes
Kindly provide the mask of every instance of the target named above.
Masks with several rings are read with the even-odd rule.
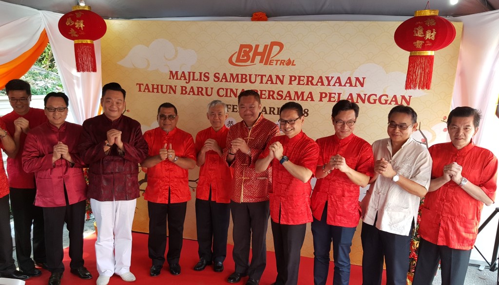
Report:
[[[138,163],[147,156],[140,123],[124,116],[126,92],[118,83],[102,87],[103,115],[85,120],[78,149],[89,165],[88,198],[97,222],[97,285],[113,274],[135,281],[130,272],[132,222],[139,197]]]

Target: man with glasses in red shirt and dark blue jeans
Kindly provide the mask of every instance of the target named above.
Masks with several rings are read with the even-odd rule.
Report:
[[[331,242],[333,284],[350,281],[350,247],[361,212],[359,186],[365,187],[374,175],[371,145],[353,134],[358,116],[357,104],[338,101],[331,114],[334,135],[317,140],[320,154],[311,198],[316,285],[326,284]]]

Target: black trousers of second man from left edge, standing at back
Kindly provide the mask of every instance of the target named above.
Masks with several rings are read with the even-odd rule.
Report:
[[[15,255],[21,271],[30,271],[34,262],[45,263],[43,210],[34,205],[36,189],[10,188],[10,206],[14,217]],[[31,259],[33,226],[33,260]]]

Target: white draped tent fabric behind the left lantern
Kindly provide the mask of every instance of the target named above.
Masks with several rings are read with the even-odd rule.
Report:
[[[76,72],[73,42],[64,38],[57,27],[61,16],[0,1],[0,64],[30,49],[45,29],[74,121],[82,124],[85,119],[95,116],[99,108],[102,86],[100,41],[94,42],[97,72]]]

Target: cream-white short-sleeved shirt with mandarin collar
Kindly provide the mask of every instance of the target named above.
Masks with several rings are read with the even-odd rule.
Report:
[[[383,139],[373,143],[374,160],[390,161],[393,170],[400,176],[424,186],[430,186],[432,158],[425,145],[416,142],[412,137],[402,145],[397,153],[392,154],[391,140]],[[376,213],[378,219],[376,228],[381,231],[408,236],[412,222],[416,224],[420,198],[405,191],[392,178],[379,175],[369,186],[361,207],[363,221],[374,225]]]

